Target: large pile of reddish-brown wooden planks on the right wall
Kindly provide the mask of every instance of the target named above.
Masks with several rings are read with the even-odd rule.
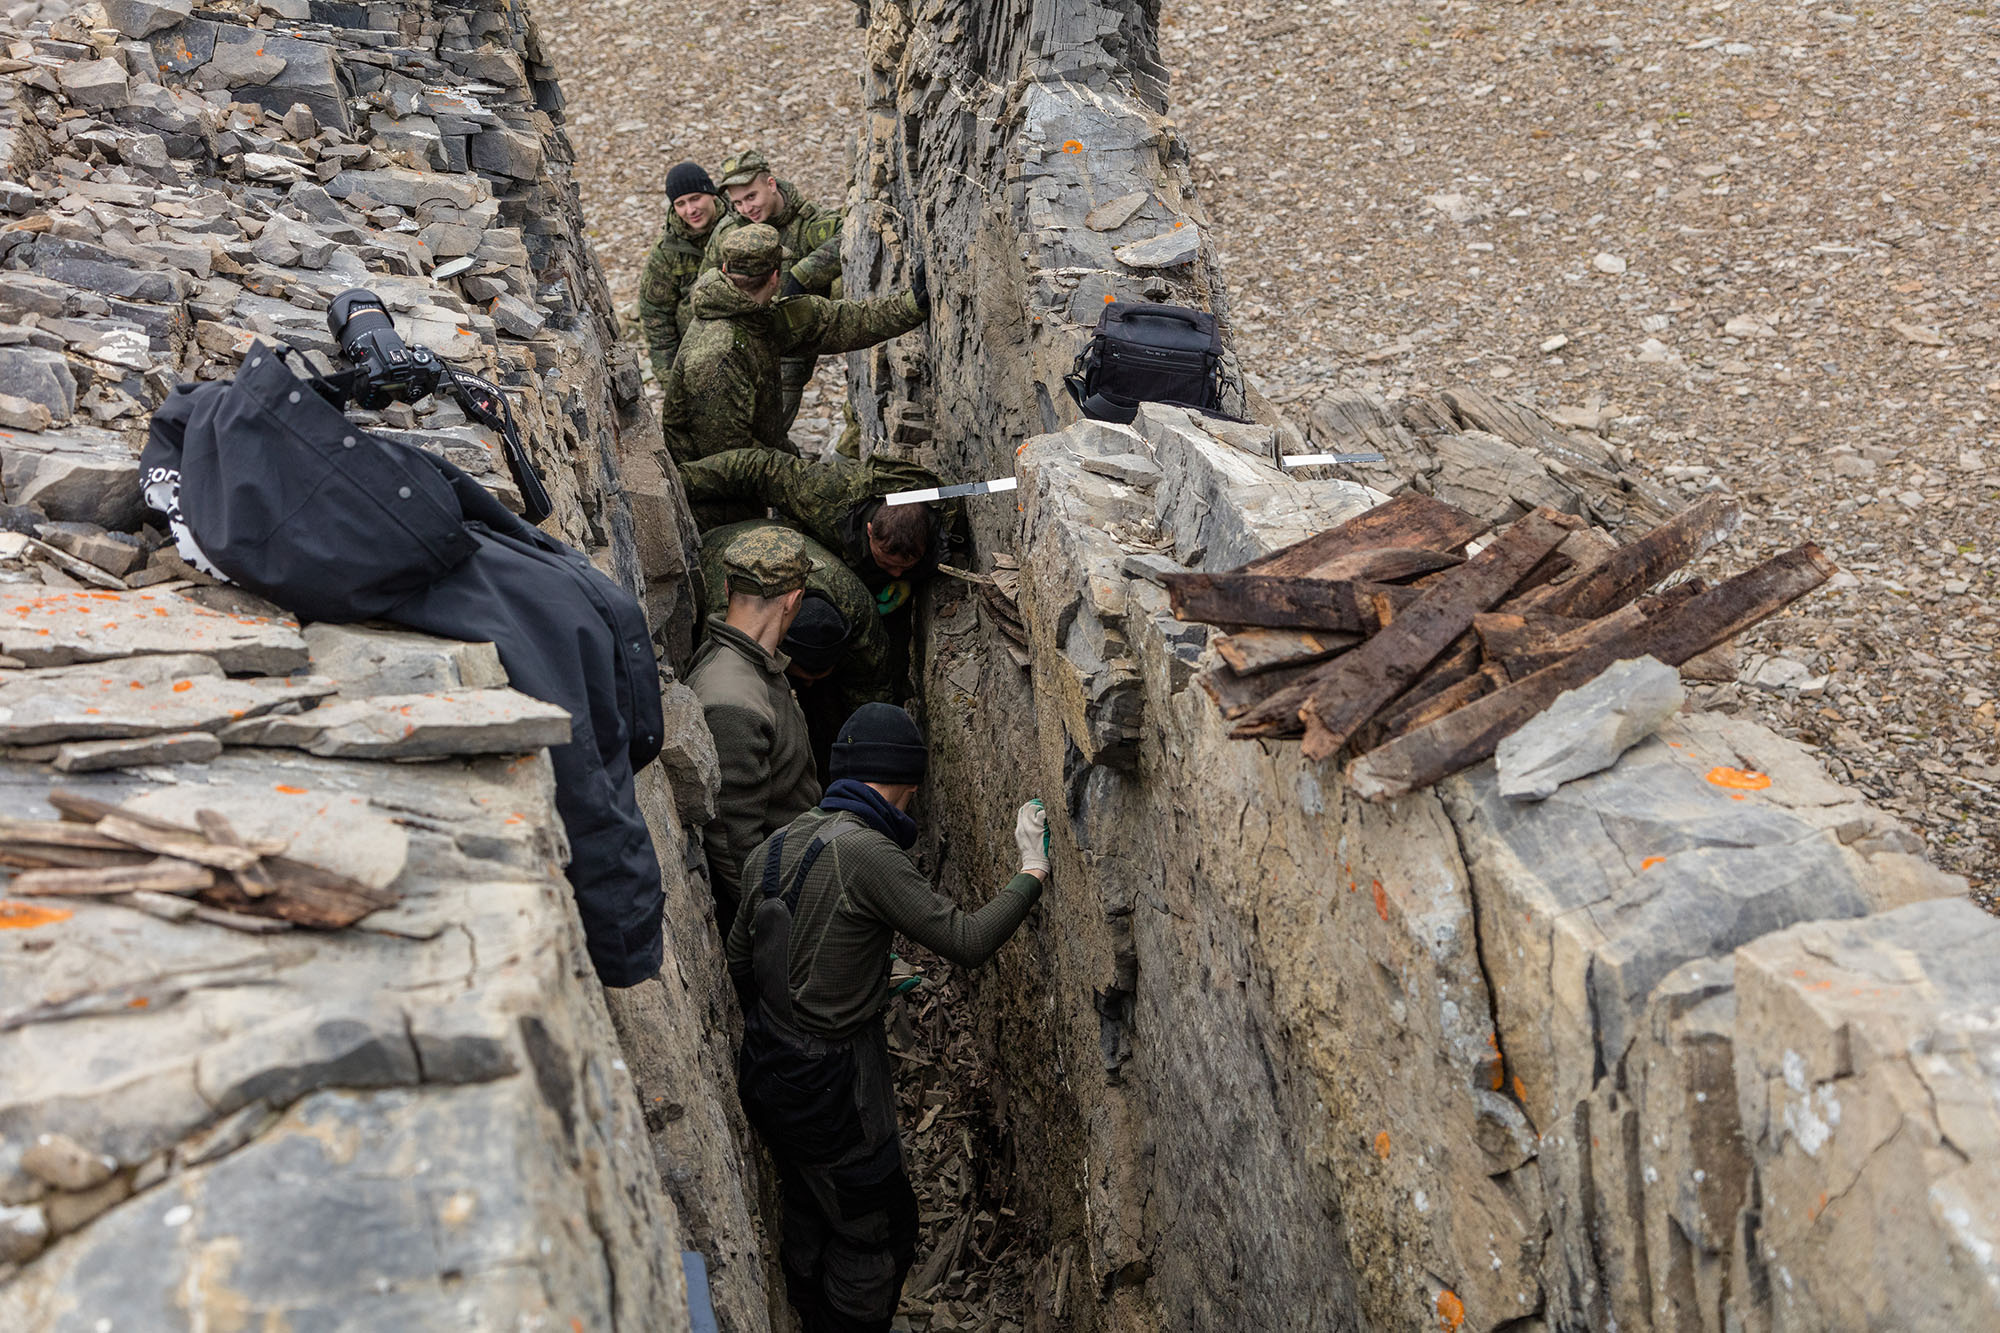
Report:
[[[1388,801],[1492,757],[1612,662],[1680,666],[1834,572],[1806,544],[1716,586],[1650,592],[1740,518],[1708,498],[1616,546],[1538,508],[1468,554],[1478,518],[1404,494],[1226,574],[1168,574],[1166,588],[1176,616],[1228,630],[1200,681],[1232,737],[1304,737],[1308,759],[1346,751],[1348,783]]]

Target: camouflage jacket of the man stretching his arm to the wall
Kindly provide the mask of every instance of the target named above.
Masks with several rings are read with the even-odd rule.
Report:
[[[690,304],[694,320],[660,402],[666,452],[676,464],[726,448],[796,452],[786,436],[778,362],[874,346],[924,322],[910,292],[878,300],[792,296],[760,306],[722,272],[704,272]]]

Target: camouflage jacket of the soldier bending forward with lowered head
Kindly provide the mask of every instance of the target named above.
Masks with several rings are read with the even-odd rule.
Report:
[[[684,464],[680,482],[688,488],[688,504],[748,500],[776,508],[812,540],[840,552],[862,584],[876,590],[888,582],[888,574],[868,550],[868,520],[882,496],[936,486],[938,478],[930,468],[884,454],[806,462],[770,448],[730,448]],[[936,504],[930,512],[930,554],[906,578],[930,576],[944,552],[944,516]]]

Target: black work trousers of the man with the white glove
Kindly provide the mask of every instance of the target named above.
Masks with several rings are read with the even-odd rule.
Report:
[[[880,1019],[846,1041],[800,1041],[824,1057],[812,1065],[838,1069],[856,1117],[828,1143],[828,1117],[814,1103],[834,1089],[802,1089],[796,1099],[766,1091],[746,1107],[778,1163],[784,1295],[806,1333],[882,1333],[916,1259],[916,1191],[896,1131],[888,1041]]]

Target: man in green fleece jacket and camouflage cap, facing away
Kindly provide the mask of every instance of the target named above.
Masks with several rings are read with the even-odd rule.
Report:
[[[790,528],[766,524],[736,536],[722,552],[728,608],[708,616],[688,673],[722,767],[716,817],[702,831],[722,939],[736,917],[744,857],[820,799],[806,715],[778,650],[818,568],[806,538]]]

